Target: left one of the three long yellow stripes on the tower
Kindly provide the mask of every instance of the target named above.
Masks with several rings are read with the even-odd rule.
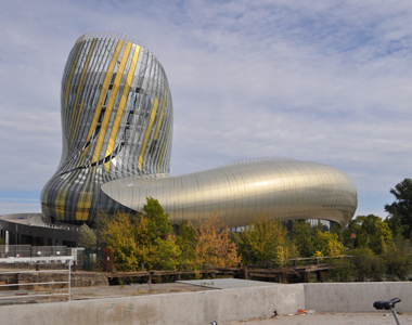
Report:
[[[117,47],[115,49],[115,53],[113,53],[112,61],[111,61],[111,63],[110,63],[110,65],[107,67],[106,76],[104,77],[104,81],[103,81],[103,84],[102,84],[102,89],[100,91],[98,104],[96,104],[95,109],[94,109],[93,119],[91,121],[89,133],[88,133],[88,135],[86,138],[87,139],[86,141],[90,140],[91,134],[94,132],[95,127],[98,126],[100,113],[101,113],[102,106],[103,106],[103,101],[104,101],[104,99],[106,96],[106,92],[107,92],[107,88],[108,88],[108,84],[110,84],[111,79],[112,79],[113,70],[114,70],[114,68],[116,66],[117,57],[120,54],[120,50],[121,50],[121,47],[123,47],[124,42],[125,41],[123,41],[123,40],[118,41]],[[90,148],[90,145],[81,154],[81,158],[79,159],[78,166],[81,166],[83,164],[85,158],[86,158],[86,156],[87,156],[87,154],[89,152],[89,148]]]

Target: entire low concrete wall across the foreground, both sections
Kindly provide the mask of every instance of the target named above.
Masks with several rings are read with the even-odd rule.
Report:
[[[0,324],[197,325],[295,313],[374,311],[375,300],[395,297],[412,311],[412,283],[331,283],[180,292],[114,299],[0,307]]]

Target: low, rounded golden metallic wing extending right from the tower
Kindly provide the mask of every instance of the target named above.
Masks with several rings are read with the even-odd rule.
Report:
[[[151,195],[173,223],[217,211],[229,227],[245,225],[259,212],[344,225],[358,205],[356,187],[344,172],[298,160],[243,162],[169,178],[131,177],[105,183],[102,190],[133,210],[141,210]]]

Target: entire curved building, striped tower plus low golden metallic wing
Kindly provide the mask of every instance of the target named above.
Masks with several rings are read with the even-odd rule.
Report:
[[[41,193],[42,213],[92,223],[98,209],[140,211],[157,198],[173,223],[217,212],[228,226],[267,212],[282,220],[343,225],[357,191],[340,170],[309,161],[262,159],[169,177],[172,103],[156,57],[126,37],[80,37],[62,80],[63,153]]]

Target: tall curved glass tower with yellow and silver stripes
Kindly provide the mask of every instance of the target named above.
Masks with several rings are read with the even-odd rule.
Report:
[[[44,217],[91,223],[99,207],[125,208],[101,191],[103,183],[169,173],[170,89],[158,60],[134,40],[81,36],[64,68],[61,114],[62,158],[41,192]]]

